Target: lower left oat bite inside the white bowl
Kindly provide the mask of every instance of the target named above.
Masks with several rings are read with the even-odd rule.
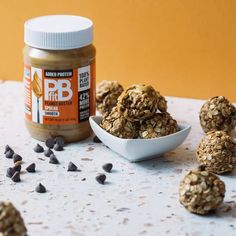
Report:
[[[138,122],[127,120],[117,107],[114,107],[111,113],[107,113],[100,126],[110,134],[119,138],[137,138],[139,125]]]

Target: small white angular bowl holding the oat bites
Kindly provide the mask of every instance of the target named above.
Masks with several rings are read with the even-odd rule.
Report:
[[[95,135],[110,149],[130,162],[148,160],[178,147],[188,136],[191,126],[179,125],[179,131],[153,139],[123,139],[100,127],[101,116],[91,116],[89,122]]]

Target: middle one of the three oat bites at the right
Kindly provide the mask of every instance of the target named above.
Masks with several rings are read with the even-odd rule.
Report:
[[[209,132],[197,148],[197,160],[215,174],[230,172],[236,167],[236,143],[224,131]]]

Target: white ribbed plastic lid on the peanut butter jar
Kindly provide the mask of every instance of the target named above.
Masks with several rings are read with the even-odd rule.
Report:
[[[30,19],[24,25],[24,41],[35,48],[66,50],[93,41],[93,22],[73,15],[49,15]]]

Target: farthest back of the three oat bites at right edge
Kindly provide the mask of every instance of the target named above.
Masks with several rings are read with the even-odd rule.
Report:
[[[236,126],[236,108],[223,96],[216,96],[203,104],[200,111],[202,129],[209,131],[232,131]]]

